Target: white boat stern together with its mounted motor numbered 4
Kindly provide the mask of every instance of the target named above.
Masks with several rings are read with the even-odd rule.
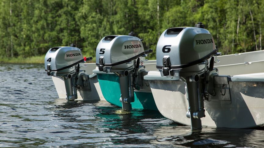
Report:
[[[74,44],[50,48],[45,56],[45,71],[52,77],[59,98],[105,100],[92,72],[96,65],[85,63],[91,59],[83,57],[81,49]]]

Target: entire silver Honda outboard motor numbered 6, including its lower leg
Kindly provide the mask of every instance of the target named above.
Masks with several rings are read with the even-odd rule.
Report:
[[[157,43],[157,66],[161,76],[178,76],[187,86],[192,128],[201,128],[200,118],[205,117],[204,100],[214,95],[213,69],[217,52],[211,33],[203,23],[196,27],[176,27],[165,30]],[[209,64],[210,61],[210,64]],[[212,85],[213,86],[213,85]]]

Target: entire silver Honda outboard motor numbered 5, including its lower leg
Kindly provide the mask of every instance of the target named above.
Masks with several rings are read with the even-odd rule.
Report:
[[[102,38],[96,48],[99,71],[114,72],[119,76],[120,102],[125,110],[132,109],[130,103],[134,102],[134,80],[143,67],[139,64],[140,58],[152,52],[152,49],[144,51],[141,40],[134,32],[129,35],[110,35]]]

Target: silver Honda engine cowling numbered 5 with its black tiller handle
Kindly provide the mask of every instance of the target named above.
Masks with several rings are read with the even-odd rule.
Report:
[[[130,35],[111,35],[101,39],[96,48],[96,65],[103,72],[131,69],[135,60],[152,52],[144,51],[141,39]]]

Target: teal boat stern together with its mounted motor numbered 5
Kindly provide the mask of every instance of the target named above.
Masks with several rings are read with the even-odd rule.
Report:
[[[97,68],[93,72],[102,94],[109,103],[124,110],[157,110],[149,83],[143,79],[148,73],[145,68],[152,67],[143,65],[152,49],[144,50],[141,40],[133,32],[111,35],[103,37],[96,48]]]

